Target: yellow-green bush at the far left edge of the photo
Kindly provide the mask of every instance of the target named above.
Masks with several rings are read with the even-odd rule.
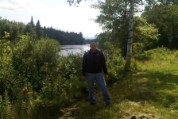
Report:
[[[5,39],[0,40],[0,95],[4,95],[5,90],[10,94],[9,98],[14,98],[13,91],[18,83],[15,80],[16,72],[12,67],[13,44]],[[14,89],[13,89],[14,88]]]

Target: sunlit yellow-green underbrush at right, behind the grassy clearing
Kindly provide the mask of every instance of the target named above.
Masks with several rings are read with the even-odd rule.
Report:
[[[140,70],[177,63],[177,51],[161,47],[134,56]]]

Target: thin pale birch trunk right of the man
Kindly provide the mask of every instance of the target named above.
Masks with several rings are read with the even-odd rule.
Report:
[[[125,70],[129,71],[131,66],[132,58],[132,41],[133,41],[133,16],[134,16],[134,0],[130,0],[130,11],[129,11],[129,33],[127,41],[127,53],[126,53],[126,64]]]

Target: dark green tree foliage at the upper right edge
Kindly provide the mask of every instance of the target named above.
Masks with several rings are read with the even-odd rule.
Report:
[[[159,46],[177,48],[178,6],[155,5],[143,14],[148,23],[155,24],[159,30]]]

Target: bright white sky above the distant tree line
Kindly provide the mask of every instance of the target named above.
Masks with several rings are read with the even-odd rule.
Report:
[[[0,17],[27,24],[33,16],[34,23],[68,32],[82,32],[85,38],[93,38],[102,32],[95,23],[99,10],[91,8],[96,0],[69,6],[67,0],[0,0]]]

